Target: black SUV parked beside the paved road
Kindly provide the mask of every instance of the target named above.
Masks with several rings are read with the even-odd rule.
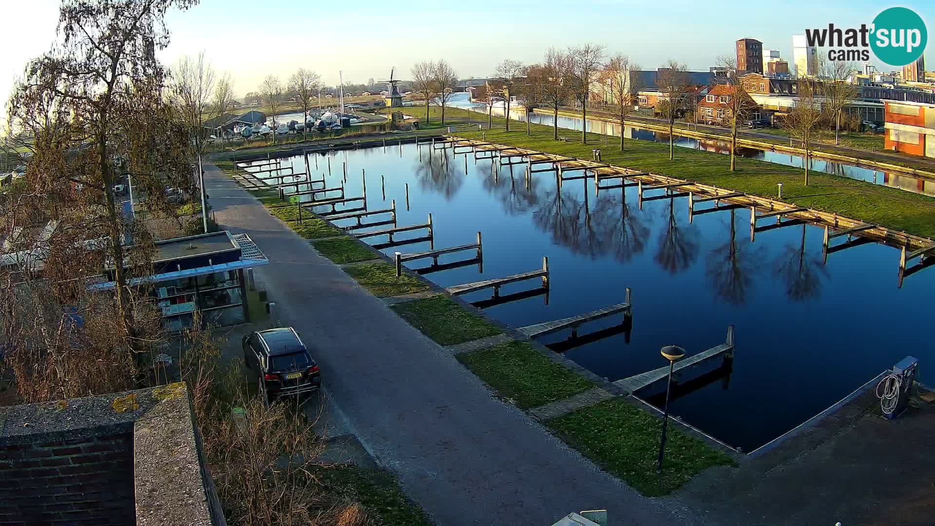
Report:
[[[244,336],[243,359],[249,369],[259,369],[260,392],[266,394],[268,402],[301,396],[322,385],[318,365],[291,327]]]

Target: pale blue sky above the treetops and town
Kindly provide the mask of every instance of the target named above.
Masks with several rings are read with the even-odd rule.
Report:
[[[792,35],[805,27],[870,23],[880,10],[895,5],[913,8],[927,22],[935,20],[935,2],[919,0],[202,0],[188,11],[170,14],[173,41],[163,58],[171,63],[180,55],[204,50],[213,66],[231,74],[238,95],[252,91],[267,74],[284,81],[299,66],[337,84],[338,70],[344,71],[344,80],[365,82],[385,78],[396,66],[397,76],[408,79],[414,63],[445,58],[461,77],[483,77],[504,58],[531,63],[550,46],[589,41],[607,46],[611,53],[625,52],[644,68],[674,58],[692,69],[707,69],[717,56],[731,54],[740,37],[755,37],[765,49],[779,50],[791,62]],[[26,61],[48,49],[57,6],[56,0],[0,0],[0,20],[24,22],[5,28],[6,45],[0,53],[3,101]]]

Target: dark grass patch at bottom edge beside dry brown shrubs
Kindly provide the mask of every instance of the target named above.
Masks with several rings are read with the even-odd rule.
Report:
[[[399,488],[396,478],[380,469],[358,466],[321,466],[311,470],[315,481],[330,494],[360,503],[372,523],[381,526],[430,526],[432,521]],[[371,522],[367,522],[368,524]]]

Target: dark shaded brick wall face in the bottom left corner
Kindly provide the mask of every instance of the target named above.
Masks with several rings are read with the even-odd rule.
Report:
[[[0,446],[0,526],[136,524],[133,435]]]

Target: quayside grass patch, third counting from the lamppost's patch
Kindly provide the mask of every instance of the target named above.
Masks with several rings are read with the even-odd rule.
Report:
[[[394,305],[392,309],[412,327],[441,345],[470,342],[503,332],[447,296],[407,301]]]

